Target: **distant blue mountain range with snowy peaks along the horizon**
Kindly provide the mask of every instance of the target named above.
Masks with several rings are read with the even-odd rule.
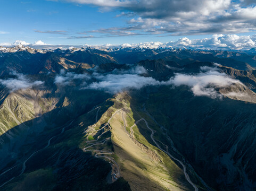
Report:
[[[10,71],[35,74],[59,72],[62,68],[93,67],[105,63],[134,64],[145,59],[171,60],[183,63],[215,62],[238,70],[254,70],[256,58],[249,51],[189,50],[169,48],[72,48],[67,50],[39,50],[19,44],[12,48],[0,47],[0,76]]]

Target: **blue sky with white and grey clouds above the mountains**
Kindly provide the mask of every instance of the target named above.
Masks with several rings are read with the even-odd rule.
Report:
[[[0,46],[21,41],[38,46],[256,45],[254,0],[0,0],[0,5]]]

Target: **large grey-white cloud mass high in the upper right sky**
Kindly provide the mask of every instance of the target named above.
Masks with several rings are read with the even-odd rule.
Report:
[[[98,6],[101,11],[119,10],[125,27],[97,29],[108,34],[133,35],[243,33],[256,30],[256,3],[251,0],[59,0]],[[133,17],[130,19],[130,17]]]

